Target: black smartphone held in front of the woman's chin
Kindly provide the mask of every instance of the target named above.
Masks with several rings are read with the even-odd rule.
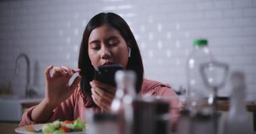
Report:
[[[98,66],[98,68],[96,68],[94,71],[94,79],[117,87],[115,82],[115,73],[118,70],[123,70],[120,64]]]

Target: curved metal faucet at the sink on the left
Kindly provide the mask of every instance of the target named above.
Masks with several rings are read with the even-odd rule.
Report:
[[[27,69],[26,69],[26,92],[25,92],[25,95],[26,95],[26,97],[32,97],[32,96],[36,95],[36,91],[34,91],[30,87],[30,59],[28,58],[27,54],[21,53],[16,58],[16,61],[15,61],[15,75],[19,74],[20,60],[22,58],[25,58],[26,65],[27,65]]]

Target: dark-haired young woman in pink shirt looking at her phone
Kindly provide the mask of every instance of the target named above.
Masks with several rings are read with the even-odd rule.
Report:
[[[56,119],[84,119],[87,109],[110,111],[116,88],[93,79],[94,68],[106,64],[121,64],[126,70],[134,70],[139,96],[177,96],[168,84],[143,78],[141,54],[125,20],[115,13],[99,13],[92,17],[84,31],[79,69],[47,67],[44,99],[24,113],[20,126]],[[75,72],[80,75],[69,86],[69,79]],[[172,102],[172,107],[180,107],[179,101]]]

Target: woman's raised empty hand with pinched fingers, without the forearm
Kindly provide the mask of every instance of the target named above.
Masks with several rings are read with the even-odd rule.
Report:
[[[52,69],[53,73],[50,74]],[[71,86],[69,86],[69,79],[75,72],[80,71],[79,69],[72,69],[67,66],[48,66],[45,70],[46,90],[44,99],[46,102],[51,105],[59,105],[59,103],[71,96],[77,84],[79,84],[81,76],[77,76]]]

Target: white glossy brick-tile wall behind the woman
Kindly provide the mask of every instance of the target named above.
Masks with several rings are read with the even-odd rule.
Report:
[[[141,49],[145,76],[186,87],[185,61],[193,40],[207,38],[217,60],[247,74],[256,95],[256,0],[171,1],[0,1],[0,84],[11,81],[23,94],[25,74],[13,76],[20,52],[38,62],[38,92],[44,92],[46,66],[77,67],[79,44],[89,19],[102,11],[119,13]],[[22,66],[25,70],[25,66]],[[31,77],[32,77],[31,76]],[[34,80],[34,79],[33,79]],[[32,80],[32,82],[33,82]],[[230,82],[220,94],[230,92]]]

